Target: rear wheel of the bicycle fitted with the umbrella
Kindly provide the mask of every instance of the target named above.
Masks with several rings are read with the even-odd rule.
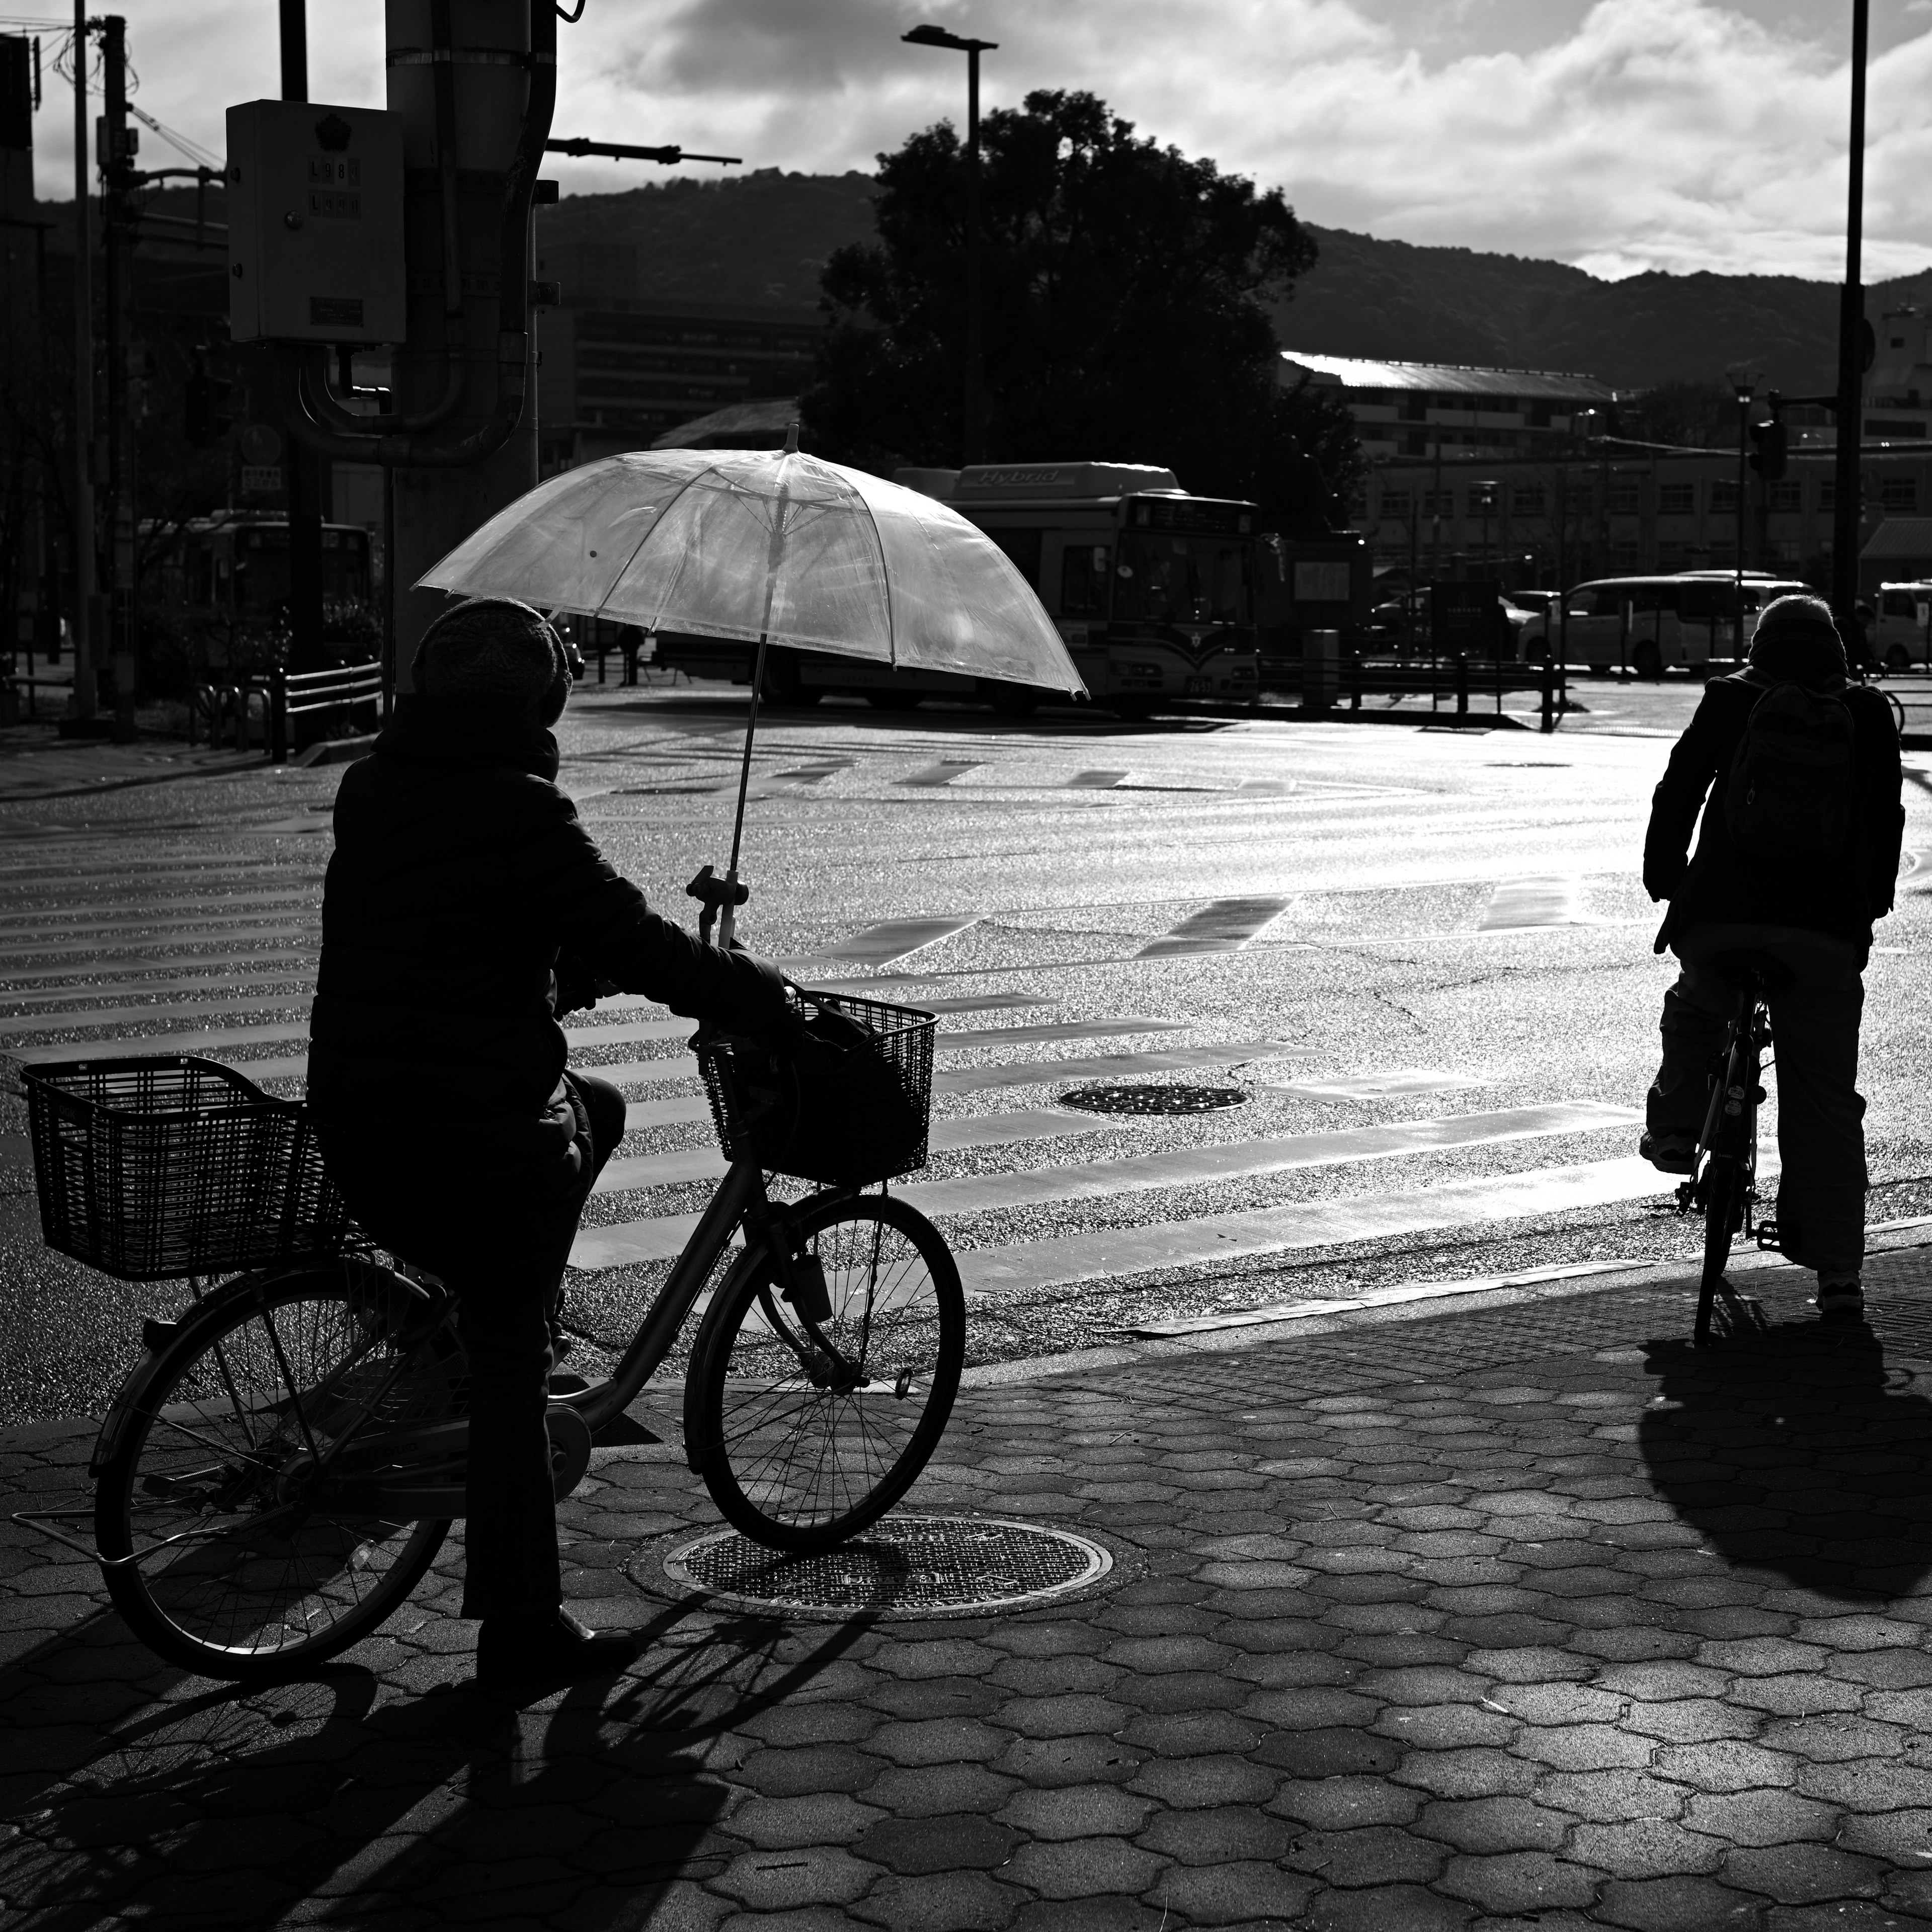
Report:
[[[448,1329],[400,1339],[423,1308],[388,1269],[342,1262],[189,1316],[95,1488],[108,1592],[141,1642],[203,1677],[280,1677],[361,1640],[415,1588],[448,1519],[330,1515],[303,1499],[303,1472],[350,1430],[365,1441],[462,1412]]]

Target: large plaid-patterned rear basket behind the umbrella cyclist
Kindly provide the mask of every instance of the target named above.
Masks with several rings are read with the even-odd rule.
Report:
[[[348,1209],[299,1101],[155,1055],[23,1068],[50,1248],[122,1281],[332,1254]]]

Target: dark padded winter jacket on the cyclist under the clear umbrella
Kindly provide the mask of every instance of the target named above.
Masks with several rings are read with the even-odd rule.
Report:
[[[402,697],[344,773],[309,1018],[325,1121],[413,1109],[487,1138],[543,1113],[564,1070],[560,952],[672,1012],[779,1018],[779,974],[649,912],[554,779],[547,730],[435,697]]]

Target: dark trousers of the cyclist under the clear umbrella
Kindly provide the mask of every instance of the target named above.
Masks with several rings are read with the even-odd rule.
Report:
[[[524,1161],[500,1148],[466,1159],[460,1142],[388,1146],[319,1122],[355,1219],[458,1296],[469,1358],[466,1617],[541,1617],[562,1602],[543,1420],[551,1316],[583,1202],[624,1136],[624,1095],[564,1074],[553,1115],[554,1136],[533,1138]]]

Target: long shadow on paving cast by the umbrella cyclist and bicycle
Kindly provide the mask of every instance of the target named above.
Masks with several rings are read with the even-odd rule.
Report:
[[[742,1849],[703,1859],[732,1803],[719,1774],[744,1752],[730,1733],[864,1631],[800,1648],[781,1625],[694,1615],[657,1607],[628,1673],[558,1702],[415,1692],[354,1663],[156,1702],[189,1679],[91,1677],[89,1652],[133,1642],[100,1613],[0,1671],[19,1747],[4,1754],[46,1766],[4,1783],[21,1826],[0,1845],[8,1924],[91,1932],[137,1913],[201,1932],[303,1901],[307,1924],[541,1922],[566,1905],[574,1924],[639,1924],[694,1864]],[[52,1719],[62,1692],[79,1725]]]

